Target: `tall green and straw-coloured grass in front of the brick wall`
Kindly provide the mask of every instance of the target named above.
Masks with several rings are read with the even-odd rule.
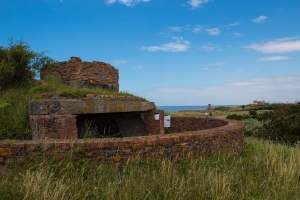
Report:
[[[123,167],[51,158],[10,164],[1,199],[299,199],[297,146],[246,138],[241,156]]]

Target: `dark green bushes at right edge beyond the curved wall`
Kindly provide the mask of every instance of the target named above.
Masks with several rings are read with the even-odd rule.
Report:
[[[275,104],[270,105],[269,109],[272,111],[258,114],[256,110],[250,110],[249,114],[231,114],[226,118],[243,120],[246,124],[247,135],[289,144],[298,143],[300,141],[300,104]]]

